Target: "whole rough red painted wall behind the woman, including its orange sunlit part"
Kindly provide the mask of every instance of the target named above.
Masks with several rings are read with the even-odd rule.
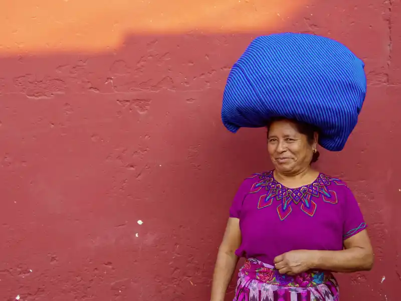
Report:
[[[399,300],[399,0],[15,0],[0,20],[1,300],[208,300],[231,199],[270,168],[263,130],[223,127],[225,80],[282,31],[366,63],[360,122],[319,168],[375,247],[342,301]]]

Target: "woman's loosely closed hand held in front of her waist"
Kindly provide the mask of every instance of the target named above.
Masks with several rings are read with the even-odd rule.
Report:
[[[314,257],[314,251],[294,250],[274,258],[274,266],[280,274],[296,275],[311,269]]]

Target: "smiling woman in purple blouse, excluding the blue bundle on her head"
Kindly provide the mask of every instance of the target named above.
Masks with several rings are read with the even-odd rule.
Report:
[[[239,260],[234,301],[339,300],[331,272],[370,270],[373,251],[358,204],[344,182],[314,170],[319,130],[272,118],[274,170],[246,179],[230,209],[211,301],[223,301]]]

